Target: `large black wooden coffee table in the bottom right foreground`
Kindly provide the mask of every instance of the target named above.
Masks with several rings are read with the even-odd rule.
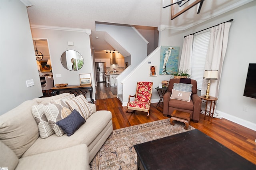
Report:
[[[197,129],[134,148],[139,170],[256,170],[256,165]]]

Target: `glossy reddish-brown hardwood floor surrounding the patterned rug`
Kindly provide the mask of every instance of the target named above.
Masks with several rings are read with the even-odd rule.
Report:
[[[113,129],[169,118],[164,117],[162,114],[162,103],[158,106],[156,106],[157,103],[151,104],[149,117],[147,117],[146,112],[136,111],[132,114],[126,113],[126,106],[122,107],[121,102],[116,97],[97,99],[95,104],[97,110],[108,110],[112,112]],[[226,119],[210,118],[210,121],[208,121],[207,118],[204,120],[204,115],[200,115],[200,121],[198,123],[190,121],[190,125],[256,164],[256,142],[254,142],[256,131]]]

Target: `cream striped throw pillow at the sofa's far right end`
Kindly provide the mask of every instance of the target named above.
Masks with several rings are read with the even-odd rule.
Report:
[[[79,95],[72,99],[66,100],[66,103],[73,111],[76,109],[80,115],[86,120],[90,115],[92,115],[92,107],[90,107],[88,101],[85,99],[84,95]]]

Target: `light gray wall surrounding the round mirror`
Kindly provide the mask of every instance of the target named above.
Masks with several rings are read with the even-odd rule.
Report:
[[[47,29],[46,29],[47,28]],[[80,85],[79,74],[91,73],[94,80],[94,67],[90,49],[90,30],[65,30],[54,27],[37,26],[31,28],[33,38],[42,38],[48,40],[50,58],[52,62],[52,73],[54,84],[68,83],[68,85]],[[87,34],[88,32],[89,34]],[[69,46],[68,42],[73,42],[73,46]],[[84,65],[77,71],[65,69],[60,62],[62,53],[66,50],[73,49],[78,51],[84,58]],[[61,74],[57,77],[56,74]],[[92,81],[93,98],[95,91],[95,83]],[[90,93],[86,94],[87,100],[90,100]]]

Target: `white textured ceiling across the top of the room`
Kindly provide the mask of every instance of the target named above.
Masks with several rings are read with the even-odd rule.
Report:
[[[68,27],[92,30],[96,22],[161,27],[186,30],[196,24],[224,14],[253,0],[204,0],[200,14],[197,6],[170,20],[172,0],[21,0],[32,4],[28,7],[31,25]],[[190,0],[184,6],[191,4]],[[30,3],[29,3],[30,2]],[[26,4],[26,3],[25,3]],[[178,9],[178,5],[175,7]],[[183,7],[182,7],[183,8]],[[231,18],[230,18],[231,19]],[[108,44],[93,43],[95,50],[108,49]]]

